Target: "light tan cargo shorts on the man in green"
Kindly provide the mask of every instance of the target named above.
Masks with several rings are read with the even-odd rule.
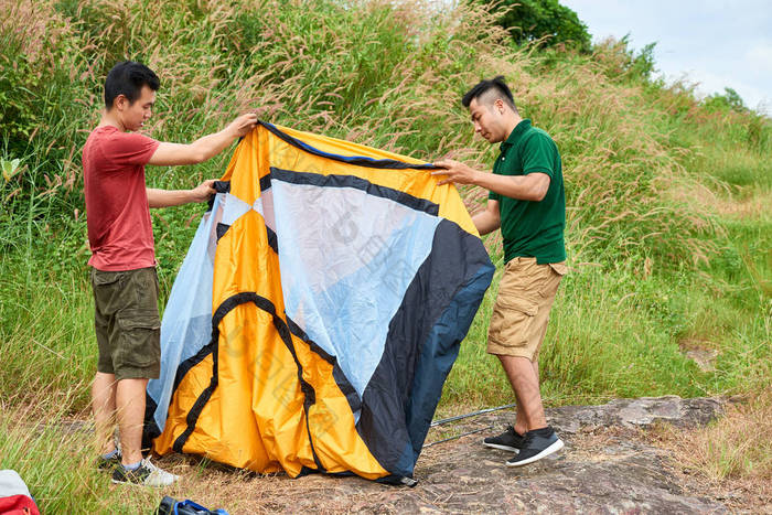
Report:
[[[536,258],[514,258],[504,267],[487,330],[489,354],[536,362],[547,332],[549,311],[566,262],[538,265]]]

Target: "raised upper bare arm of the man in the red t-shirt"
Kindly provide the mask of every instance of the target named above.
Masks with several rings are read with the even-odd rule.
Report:
[[[257,115],[247,114],[233,120],[219,132],[204,136],[192,143],[162,142],[158,146],[158,149],[156,149],[148,164],[173,167],[176,164],[196,164],[204,162],[225,150],[236,138],[245,136],[256,125]],[[152,205],[150,207],[152,207]]]

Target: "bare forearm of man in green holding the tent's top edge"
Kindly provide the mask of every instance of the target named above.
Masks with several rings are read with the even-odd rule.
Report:
[[[459,184],[476,184],[500,195],[519,201],[539,202],[549,190],[549,175],[534,172],[527,175],[496,175],[494,173],[474,170],[464,163],[453,160],[438,161],[436,167],[443,170],[431,172],[432,175],[443,175],[438,184],[458,182]]]

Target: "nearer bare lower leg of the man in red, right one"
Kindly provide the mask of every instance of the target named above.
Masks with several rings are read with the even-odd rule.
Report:
[[[116,415],[125,465],[132,465],[142,460],[142,427],[147,386],[148,379],[120,379],[116,387]]]

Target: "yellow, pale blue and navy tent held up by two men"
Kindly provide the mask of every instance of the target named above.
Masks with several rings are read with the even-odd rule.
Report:
[[[494,270],[431,169],[267,122],[240,141],[164,311],[156,452],[410,482]]]

